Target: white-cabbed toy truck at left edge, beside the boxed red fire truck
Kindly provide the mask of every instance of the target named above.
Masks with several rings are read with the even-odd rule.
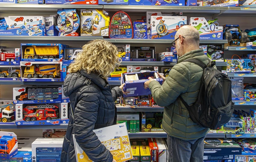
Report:
[[[14,111],[7,107],[0,107],[0,122],[12,122],[15,120]]]

